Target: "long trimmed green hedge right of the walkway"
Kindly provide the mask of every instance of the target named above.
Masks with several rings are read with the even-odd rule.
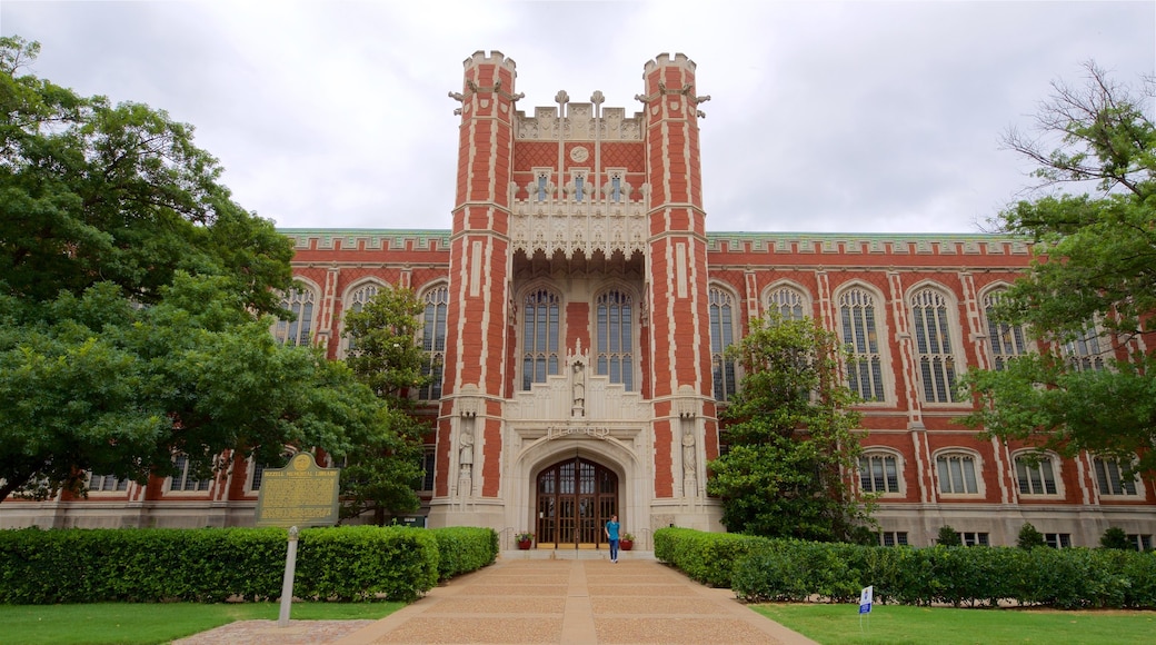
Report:
[[[902,605],[1156,608],[1150,553],[860,547],[664,528],[654,533],[654,555],[753,602],[846,602],[873,585],[877,602]]]

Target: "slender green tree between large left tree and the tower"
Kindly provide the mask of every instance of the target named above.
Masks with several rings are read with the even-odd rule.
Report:
[[[378,524],[386,513],[418,507],[413,482],[422,476],[422,439],[429,425],[414,413],[409,393],[429,381],[427,355],[417,344],[418,316],[424,311],[412,289],[380,289],[361,311],[346,314],[350,341],[346,363],[388,408],[388,435],[360,442],[342,472],[342,514],[373,510]]]

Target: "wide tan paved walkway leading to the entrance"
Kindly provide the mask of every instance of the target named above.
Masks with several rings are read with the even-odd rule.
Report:
[[[550,555],[503,554],[335,643],[814,643],[652,554]]]

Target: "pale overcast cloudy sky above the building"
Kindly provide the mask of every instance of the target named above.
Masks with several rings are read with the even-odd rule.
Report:
[[[1094,60],[1140,88],[1156,2],[0,1],[36,75],[195,127],[280,228],[449,229],[462,61],[517,62],[518,108],[642,109],[697,64],[710,231],[978,232],[1036,185],[1001,147]],[[1153,113],[1151,105],[1147,106]]]

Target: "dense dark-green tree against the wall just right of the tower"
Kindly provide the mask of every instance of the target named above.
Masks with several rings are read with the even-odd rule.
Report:
[[[860,415],[843,385],[839,347],[810,319],[772,314],[729,349],[744,376],[721,415],[729,450],[710,462],[707,482],[728,531],[823,541],[866,531],[869,505],[849,481]]]

